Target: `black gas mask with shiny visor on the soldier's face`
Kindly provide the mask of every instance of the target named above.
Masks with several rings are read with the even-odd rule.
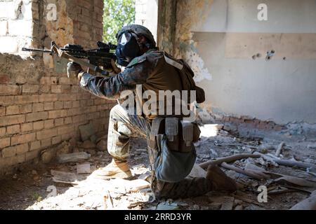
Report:
[[[117,41],[117,64],[127,66],[132,59],[140,56],[140,46],[137,42],[137,35],[130,32],[125,32],[119,36]]]

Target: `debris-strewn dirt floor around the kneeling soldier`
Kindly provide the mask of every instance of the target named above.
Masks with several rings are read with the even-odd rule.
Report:
[[[206,195],[157,201],[151,193],[150,166],[146,143],[134,139],[129,163],[133,178],[129,180],[96,179],[91,173],[110,163],[110,155],[94,148],[85,150],[91,155],[79,162],[60,164],[40,162],[20,167],[0,181],[0,209],[199,209],[199,210],[259,210],[290,209],[316,189],[316,140],[279,132],[268,137],[241,137],[225,131],[222,125],[202,127],[202,137],[195,144],[197,164],[216,158],[238,154],[260,154],[261,158],[247,158],[230,162],[246,171],[259,174],[254,178],[222,167],[225,173],[239,183],[236,193],[210,192]],[[282,144],[282,142],[284,144]],[[282,144],[280,155],[275,155]],[[269,159],[270,158],[270,159]],[[271,158],[304,162],[309,169],[285,167]],[[81,166],[80,166],[81,165]],[[86,174],[78,174],[88,169]],[[287,175],[287,176],[281,176]],[[203,176],[205,172],[195,167],[190,176]],[[294,179],[296,177],[296,179]],[[268,190],[265,201],[261,190]],[[260,190],[260,191],[259,191]]]

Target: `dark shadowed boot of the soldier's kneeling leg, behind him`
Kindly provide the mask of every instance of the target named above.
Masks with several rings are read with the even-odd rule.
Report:
[[[213,184],[212,190],[224,190],[228,192],[235,192],[237,190],[236,182],[216,165],[209,165],[207,168],[206,179]]]

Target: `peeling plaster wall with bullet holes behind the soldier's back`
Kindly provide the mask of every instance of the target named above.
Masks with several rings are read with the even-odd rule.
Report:
[[[268,21],[258,20],[259,3]],[[206,90],[202,112],[314,124],[315,11],[312,0],[161,0],[159,47],[194,69]]]

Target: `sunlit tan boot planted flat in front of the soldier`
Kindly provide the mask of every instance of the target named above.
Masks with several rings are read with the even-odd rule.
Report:
[[[127,179],[132,176],[129,164],[116,159],[113,159],[106,167],[96,170],[92,175],[99,179]]]

